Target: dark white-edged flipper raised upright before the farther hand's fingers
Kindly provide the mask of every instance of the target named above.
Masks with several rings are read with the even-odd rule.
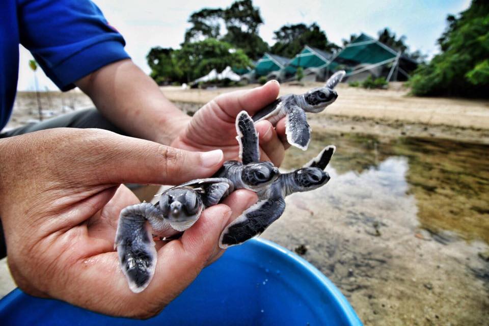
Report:
[[[239,158],[243,164],[260,161],[260,148],[258,146],[258,133],[253,119],[246,111],[241,111],[236,117],[236,132],[239,143]]]

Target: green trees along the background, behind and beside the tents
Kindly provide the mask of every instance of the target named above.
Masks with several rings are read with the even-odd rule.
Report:
[[[421,63],[410,80],[415,95],[487,97],[489,80],[489,3],[473,0],[471,7],[449,15],[448,27],[438,40],[440,55],[425,63],[419,50],[410,51],[405,36],[397,38],[389,28],[378,32],[378,41]],[[259,36],[263,24],[260,10],[252,0],[234,2],[230,7],[204,8],[194,12],[179,49],[154,47],[148,53],[151,77],[160,85],[189,83],[210,70],[253,67],[252,60],[265,52],[292,58],[309,45],[330,53],[341,50],[330,42],[317,23],[288,24],[275,31],[273,46]],[[346,46],[357,36],[343,39]]]

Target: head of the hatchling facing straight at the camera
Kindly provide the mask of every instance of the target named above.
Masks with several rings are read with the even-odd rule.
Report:
[[[202,199],[194,189],[174,188],[161,195],[159,208],[172,228],[184,231],[199,219]]]

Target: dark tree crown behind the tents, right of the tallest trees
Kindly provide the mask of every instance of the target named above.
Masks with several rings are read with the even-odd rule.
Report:
[[[274,34],[274,39],[277,42],[271,47],[270,51],[282,57],[292,58],[305,45],[329,52],[335,52],[340,49],[339,46],[328,41],[324,31],[321,31],[316,23],[310,26],[303,23],[284,25],[275,31]]]

